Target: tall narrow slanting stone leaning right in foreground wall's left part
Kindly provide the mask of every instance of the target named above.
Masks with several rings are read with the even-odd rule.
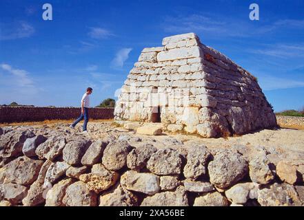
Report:
[[[45,194],[48,190],[47,186],[44,186],[44,179],[48,168],[52,162],[47,160],[44,162],[40,169],[37,180],[30,186],[28,195],[22,200],[24,206],[38,206],[45,202]],[[50,186],[49,186],[50,187]]]

